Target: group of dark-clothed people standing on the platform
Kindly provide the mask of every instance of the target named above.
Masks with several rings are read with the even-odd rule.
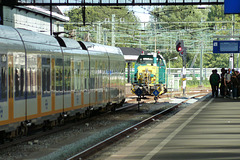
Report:
[[[212,74],[209,78],[212,87],[212,97],[218,97],[219,83],[220,83],[220,95],[224,98],[229,97],[237,99],[240,97],[240,74],[239,71],[234,69],[225,70],[221,69],[221,74],[217,73],[217,70],[212,70]]]

